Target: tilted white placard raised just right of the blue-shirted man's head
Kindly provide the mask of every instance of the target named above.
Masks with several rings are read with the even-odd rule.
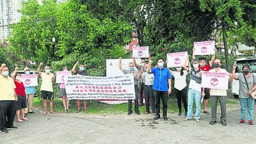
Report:
[[[188,52],[176,52],[167,54],[167,67],[182,67],[184,62],[186,62],[187,56]]]

